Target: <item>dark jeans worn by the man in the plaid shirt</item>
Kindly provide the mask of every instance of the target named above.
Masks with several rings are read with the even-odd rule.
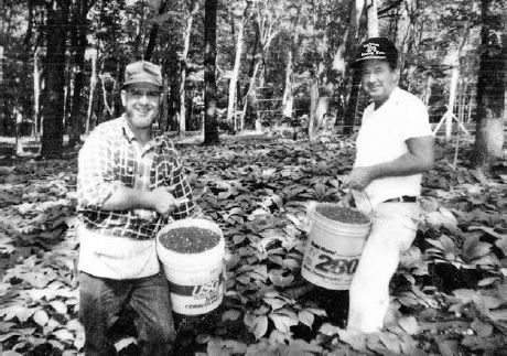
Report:
[[[85,327],[85,355],[115,355],[108,333],[121,311],[137,313],[141,355],[170,355],[175,339],[168,280],[163,273],[112,280],[79,273],[79,320]]]

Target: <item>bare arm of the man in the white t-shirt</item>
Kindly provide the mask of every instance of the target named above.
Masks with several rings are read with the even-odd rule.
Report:
[[[353,169],[345,185],[355,190],[364,190],[371,181],[385,176],[413,175],[433,168],[434,144],[432,136],[410,138],[406,141],[408,152],[396,160]]]

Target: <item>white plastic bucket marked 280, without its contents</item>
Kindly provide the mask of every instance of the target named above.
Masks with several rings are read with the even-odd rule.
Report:
[[[311,226],[301,274],[309,282],[330,290],[347,290],[356,271],[371,222],[346,224],[311,213]]]

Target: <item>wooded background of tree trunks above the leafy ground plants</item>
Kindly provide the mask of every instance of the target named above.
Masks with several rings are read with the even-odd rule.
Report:
[[[401,86],[435,132],[478,122],[476,164],[501,154],[501,1],[3,0],[1,19],[0,136],[40,136],[46,158],[120,114],[125,66],[141,58],[163,67],[161,130],[350,133],[367,100],[348,63],[375,35],[400,48]]]

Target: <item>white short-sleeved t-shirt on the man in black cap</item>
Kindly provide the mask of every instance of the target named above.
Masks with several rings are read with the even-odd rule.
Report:
[[[384,105],[369,105],[356,140],[354,166],[368,166],[396,160],[408,152],[406,140],[431,136],[428,110],[414,95],[395,88]],[[421,193],[421,174],[388,176],[373,181],[366,193],[371,206],[401,195]]]

